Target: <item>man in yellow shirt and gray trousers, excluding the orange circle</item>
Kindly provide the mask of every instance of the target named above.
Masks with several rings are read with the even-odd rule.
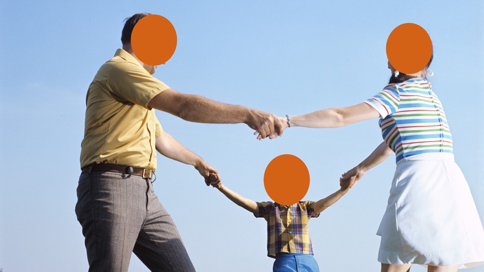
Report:
[[[76,215],[90,271],[127,271],[132,252],[151,270],[195,271],[153,192],[155,149],[195,166],[207,185],[217,170],[164,132],[154,109],[193,122],[246,123],[262,138],[281,133],[273,114],[181,94],[152,77],[156,66],[131,48],[133,28],[147,15],[127,20],[123,49],[100,67],[87,92]]]

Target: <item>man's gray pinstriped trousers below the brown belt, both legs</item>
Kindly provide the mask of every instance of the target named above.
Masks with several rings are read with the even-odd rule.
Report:
[[[195,271],[150,180],[83,171],[77,197],[89,271],[128,271],[132,252],[151,271]]]

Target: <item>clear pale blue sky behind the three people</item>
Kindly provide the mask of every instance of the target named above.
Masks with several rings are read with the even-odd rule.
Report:
[[[484,221],[481,141],[484,2],[466,1],[49,1],[1,0],[0,268],[85,271],[74,206],[85,95],[120,44],[123,20],[159,14],[177,31],[173,57],[155,77],[171,88],[276,115],[348,106],[385,86],[385,42],[402,23],[434,44],[430,79],[443,102],[464,172]],[[338,129],[289,128],[255,140],[244,124],[191,123],[156,113],[163,128],[216,167],[224,184],[268,200],[263,174],[281,154],[311,175],[306,199],[338,189],[338,178],[381,143],[378,120]],[[325,271],[379,270],[380,237],[394,156],[371,170],[320,218],[311,220]],[[198,271],[269,271],[266,223],[206,187],[192,167],[159,156],[155,192]],[[418,266],[412,271],[423,271]],[[148,271],[133,255],[130,271]],[[484,267],[468,269],[484,271]]]

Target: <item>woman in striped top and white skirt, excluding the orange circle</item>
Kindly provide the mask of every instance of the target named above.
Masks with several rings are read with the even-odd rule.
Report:
[[[484,263],[484,230],[454,162],[442,104],[426,79],[432,58],[423,70],[409,75],[388,62],[389,85],[364,103],[280,117],[284,129],[340,127],[381,118],[384,142],[342,179],[357,181],[392,151],[396,154],[389,204],[377,232],[382,236],[378,260],[386,272],[408,271],[412,263],[428,265],[428,271]]]

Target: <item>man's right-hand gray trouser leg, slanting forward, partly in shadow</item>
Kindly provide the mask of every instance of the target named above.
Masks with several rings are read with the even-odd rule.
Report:
[[[171,216],[149,184],[148,212],[133,252],[151,271],[195,271]]]

